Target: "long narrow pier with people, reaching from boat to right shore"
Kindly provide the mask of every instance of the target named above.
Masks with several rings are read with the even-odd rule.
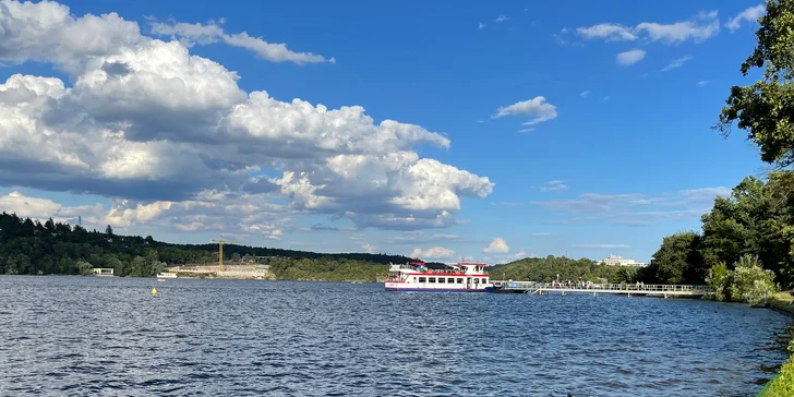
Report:
[[[688,285],[660,285],[660,284],[604,284],[592,286],[565,285],[561,282],[533,282],[533,281],[510,281],[493,280],[496,292],[504,293],[529,293],[542,294],[558,292],[569,293],[618,293],[627,296],[655,296],[655,297],[702,297],[713,293],[707,286]]]

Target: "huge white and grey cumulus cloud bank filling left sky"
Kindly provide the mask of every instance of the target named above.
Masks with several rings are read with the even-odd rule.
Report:
[[[273,239],[287,230],[275,217],[220,225],[188,214],[220,206],[204,196],[220,192],[264,214],[442,228],[456,224],[462,196],[485,197],[494,187],[418,155],[419,145],[448,148],[441,133],[376,122],[361,106],[246,93],[236,72],[185,45],[234,36],[218,25],[158,25],[182,39],[163,41],[117,14],[73,17],[53,2],[0,7],[0,59],[49,62],[74,82],[15,74],[0,83],[0,185],[112,197],[118,205],[105,216],[116,225],[178,216],[182,230],[233,226]]]

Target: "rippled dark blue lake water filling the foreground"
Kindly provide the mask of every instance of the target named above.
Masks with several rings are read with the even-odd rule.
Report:
[[[0,395],[753,396],[790,323],[655,298],[0,276]]]

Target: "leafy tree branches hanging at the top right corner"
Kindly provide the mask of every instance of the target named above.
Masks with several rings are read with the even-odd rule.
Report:
[[[794,164],[794,1],[767,0],[758,23],[757,46],[741,71],[746,76],[751,68],[766,67],[763,79],[731,87],[715,128],[727,136],[738,121],[763,161],[787,167]]]

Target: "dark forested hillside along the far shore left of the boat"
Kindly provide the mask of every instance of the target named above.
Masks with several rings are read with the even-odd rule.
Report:
[[[38,220],[23,219],[15,214],[0,214],[0,274],[81,275],[91,274],[93,267],[111,267],[117,276],[152,277],[167,265],[217,263],[217,250],[216,244],[169,244],[158,242],[152,236],[117,236],[109,226],[104,232],[88,231],[81,226],[72,227],[52,219],[41,225]],[[287,277],[299,277],[300,269],[303,269],[300,261],[322,258],[317,262],[326,264],[323,272],[333,267],[344,275],[360,275],[361,279],[374,279],[378,273],[373,269],[385,268],[383,264],[409,261],[399,255],[321,254],[236,244],[225,244],[224,256],[236,261],[242,257],[246,262],[281,258],[282,266],[287,267],[297,264],[299,267],[292,273],[285,270]],[[361,266],[362,270],[356,273],[348,268],[350,266]]]

